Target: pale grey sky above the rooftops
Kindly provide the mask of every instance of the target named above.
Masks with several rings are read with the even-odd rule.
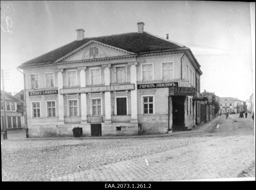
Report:
[[[10,70],[5,91],[24,87],[17,66],[76,40],[76,29],[105,36],[136,32],[137,22],[192,50],[203,72],[201,92],[252,95],[250,4],[216,1],[1,1],[1,68]]]

